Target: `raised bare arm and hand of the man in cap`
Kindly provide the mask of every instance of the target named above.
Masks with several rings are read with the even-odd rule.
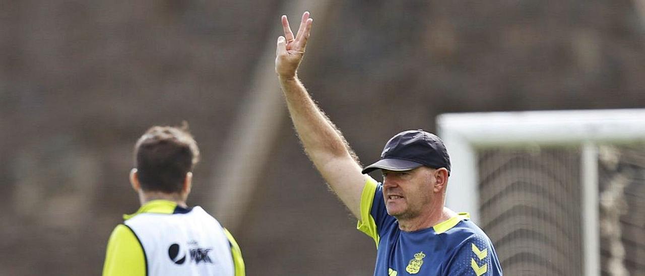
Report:
[[[296,73],[312,22],[309,12],[305,12],[294,37],[286,15],[283,15],[284,36],[278,37],[275,72],[304,151],[341,201],[361,219],[361,193],[366,176],[362,175],[361,166],[341,132],[313,102]]]

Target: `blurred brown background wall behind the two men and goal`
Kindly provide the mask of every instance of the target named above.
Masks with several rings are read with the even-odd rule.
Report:
[[[0,3],[0,275],[99,275],[110,232],[139,207],[135,140],[182,121],[202,153],[189,204],[230,228],[248,275],[372,275],[373,241],[286,115],[282,14],[295,29],[312,12],[299,75],[362,163],[394,133],[435,131],[440,113],[645,105],[642,0]],[[631,275],[645,273],[644,223],[623,242]],[[502,267],[530,257],[498,253]],[[551,273],[582,275],[580,262]]]

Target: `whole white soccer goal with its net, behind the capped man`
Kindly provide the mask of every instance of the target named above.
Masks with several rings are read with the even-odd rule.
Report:
[[[446,204],[508,275],[645,275],[645,109],[447,113]]]

